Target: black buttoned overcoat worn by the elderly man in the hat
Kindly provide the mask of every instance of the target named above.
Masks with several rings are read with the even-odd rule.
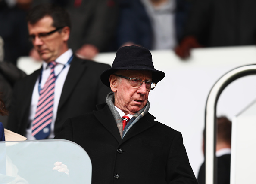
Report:
[[[109,107],[98,108],[68,119],[55,136],[87,151],[92,184],[197,184],[180,132],[147,113],[121,139]]]

